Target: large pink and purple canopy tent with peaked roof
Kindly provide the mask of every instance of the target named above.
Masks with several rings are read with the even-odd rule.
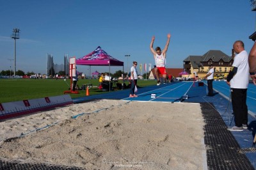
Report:
[[[97,47],[97,49],[93,50],[93,52],[91,52],[90,54],[87,54],[82,58],[76,59],[76,65],[90,66],[90,74],[91,74],[91,66],[109,66],[109,75],[110,75],[110,66],[123,66],[123,72],[124,72],[124,62],[113,58],[106,51],[102,50],[100,46]],[[123,77],[123,81],[124,81],[124,77]],[[109,85],[109,91],[110,91],[110,85]]]

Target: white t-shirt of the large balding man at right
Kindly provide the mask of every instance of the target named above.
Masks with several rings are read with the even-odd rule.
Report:
[[[247,89],[249,84],[248,54],[245,50],[237,54],[232,66],[237,67],[237,72],[230,81],[230,88]]]

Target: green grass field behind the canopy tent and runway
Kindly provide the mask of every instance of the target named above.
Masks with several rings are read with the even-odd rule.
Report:
[[[122,83],[122,81],[119,81]],[[97,79],[79,79],[77,84],[92,83],[95,88],[90,89],[90,95],[109,93],[100,91]],[[64,91],[68,91],[70,79],[0,79],[0,103],[14,102],[20,100],[29,100],[33,98],[43,98],[63,95]],[[129,84],[128,81],[125,84]],[[138,80],[138,86],[150,86],[156,84],[154,80]],[[114,86],[115,87],[115,86]],[[115,89],[120,90],[120,89]],[[86,90],[79,90],[79,94],[70,94],[71,98],[84,97]]]

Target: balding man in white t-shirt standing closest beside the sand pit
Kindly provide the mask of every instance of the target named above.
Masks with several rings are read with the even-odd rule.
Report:
[[[231,89],[231,100],[234,112],[235,126],[230,131],[243,131],[247,128],[248,108],[246,105],[247,88],[249,84],[248,54],[244,50],[244,43],[236,41],[233,45],[236,52],[234,63],[227,76],[227,84]]]

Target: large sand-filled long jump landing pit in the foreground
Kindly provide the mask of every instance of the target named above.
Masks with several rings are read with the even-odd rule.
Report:
[[[45,125],[52,126],[35,131]],[[99,100],[4,121],[0,128],[4,160],[86,169],[204,169],[199,104]],[[8,140],[20,134],[26,135]]]

